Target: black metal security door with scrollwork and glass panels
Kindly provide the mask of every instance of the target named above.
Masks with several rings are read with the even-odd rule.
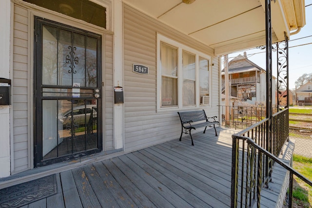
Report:
[[[35,166],[99,152],[101,36],[35,17]]]

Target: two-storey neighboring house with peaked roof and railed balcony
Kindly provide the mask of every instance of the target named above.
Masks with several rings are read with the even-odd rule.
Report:
[[[266,101],[266,71],[251,62],[244,52],[229,62],[230,95],[251,104]],[[222,73],[222,91],[225,87],[224,69]],[[272,77],[272,104],[276,104],[276,78]]]

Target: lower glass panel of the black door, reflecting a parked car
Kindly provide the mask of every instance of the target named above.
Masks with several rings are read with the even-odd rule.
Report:
[[[96,99],[43,100],[43,159],[96,149],[98,146],[97,115]]]

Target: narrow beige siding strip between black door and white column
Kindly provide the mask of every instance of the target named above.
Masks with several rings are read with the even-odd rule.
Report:
[[[113,94],[113,36],[105,35],[105,104],[103,106],[105,116],[104,127],[104,150],[114,149],[114,136],[113,136],[113,112],[114,112],[114,94]]]

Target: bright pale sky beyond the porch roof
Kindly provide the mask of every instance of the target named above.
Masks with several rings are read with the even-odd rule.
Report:
[[[312,73],[312,0],[305,0],[306,4],[306,25],[298,34],[289,38],[289,88],[295,88],[295,81],[304,73]],[[307,6],[310,5],[310,6]],[[292,31],[293,32],[293,31]],[[309,37],[310,36],[310,37]],[[307,38],[304,38],[307,37]],[[295,40],[299,39],[299,40]],[[265,50],[249,49],[245,50],[250,61],[266,69]],[[239,54],[244,55],[244,51],[229,54],[229,61]],[[276,77],[276,52],[272,54],[272,73]]]

